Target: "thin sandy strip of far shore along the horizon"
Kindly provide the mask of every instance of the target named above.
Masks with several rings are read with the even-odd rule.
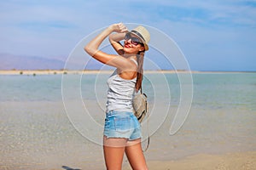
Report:
[[[67,71],[67,70],[0,70],[0,75],[60,75],[60,74],[111,74],[113,70],[98,71],[98,70],[84,70],[84,71]],[[192,73],[192,74],[221,74],[221,73],[255,73],[256,71],[144,71],[145,74],[177,74],[177,73]]]

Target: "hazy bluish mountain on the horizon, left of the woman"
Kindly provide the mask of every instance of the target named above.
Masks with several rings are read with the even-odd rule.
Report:
[[[65,62],[66,60],[63,57],[49,59],[38,56],[0,53],[0,70],[61,70],[64,69]],[[68,66],[68,70],[76,70],[76,68],[98,70],[102,68],[102,64],[95,59],[91,59],[86,66],[83,63],[73,63]]]

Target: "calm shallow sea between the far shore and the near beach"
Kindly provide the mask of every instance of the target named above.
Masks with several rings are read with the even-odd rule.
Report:
[[[62,75],[0,76],[0,169],[102,169],[102,146],[73,127],[62,92],[67,100],[86,101],[88,111],[102,123],[108,76],[67,74],[64,82]],[[173,114],[166,116],[151,136],[147,159],[256,150],[256,73],[194,73],[192,80],[193,100],[186,122],[171,136]],[[177,111],[181,87],[176,74],[147,73],[143,81],[149,102],[160,103],[155,107],[170,105],[170,112]]]

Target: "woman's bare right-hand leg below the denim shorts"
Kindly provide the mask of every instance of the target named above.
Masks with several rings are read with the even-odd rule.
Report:
[[[143,155],[141,139],[127,142],[125,154],[131,164],[133,170],[147,170],[147,164]]]

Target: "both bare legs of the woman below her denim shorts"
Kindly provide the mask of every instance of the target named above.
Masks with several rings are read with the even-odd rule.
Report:
[[[107,139],[104,136],[104,157],[108,170],[121,170],[124,153],[133,170],[147,170],[143,155],[141,139],[128,141],[127,139]]]

